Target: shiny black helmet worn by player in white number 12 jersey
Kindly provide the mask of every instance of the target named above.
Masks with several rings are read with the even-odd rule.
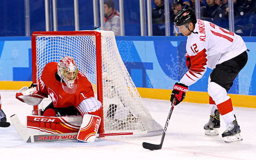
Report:
[[[190,9],[183,9],[177,12],[173,22],[175,26],[182,26],[185,24],[185,26],[188,28],[189,22],[196,24],[196,14]]]

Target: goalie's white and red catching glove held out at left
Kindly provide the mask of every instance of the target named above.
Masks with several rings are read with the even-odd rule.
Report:
[[[37,91],[35,84],[32,83],[30,87],[22,87],[16,93],[16,99],[27,103],[28,105],[39,105],[44,98],[47,98],[48,95]]]

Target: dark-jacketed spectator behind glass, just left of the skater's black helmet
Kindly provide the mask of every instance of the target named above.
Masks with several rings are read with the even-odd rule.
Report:
[[[153,36],[165,36],[164,1],[154,0],[156,5],[152,9],[152,30]],[[170,33],[173,32],[173,10],[170,9]],[[172,35],[171,35],[172,36]]]

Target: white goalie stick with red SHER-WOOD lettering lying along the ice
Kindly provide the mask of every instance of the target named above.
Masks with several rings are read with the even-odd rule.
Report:
[[[33,135],[29,134],[20,123],[17,115],[12,115],[10,117],[14,128],[20,135],[20,137],[25,142],[53,142],[53,141],[62,141],[62,140],[76,140],[77,132],[76,133],[60,133],[60,134],[41,134],[41,135]],[[118,136],[118,135],[131,135],[134,134],[133,132],[120,132],[120,133],[103,133],[97,134],[97,137],[104,137],[104,136]]]

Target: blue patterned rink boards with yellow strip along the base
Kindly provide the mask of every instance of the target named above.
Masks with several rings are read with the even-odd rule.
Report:
[[[256,107],[256,38],[244,37],[248,63],[231,87],[234,106]],[[169,99],[175,82],[186,73],[186,37],[116,37],[118,50],[142,97]],[[20,89],[32,81],[30,37],[0,38],[0,89]],[[211,70],[189,87],[185,101],[208,103]],[[237,101],[237,102],[236,102]]]

